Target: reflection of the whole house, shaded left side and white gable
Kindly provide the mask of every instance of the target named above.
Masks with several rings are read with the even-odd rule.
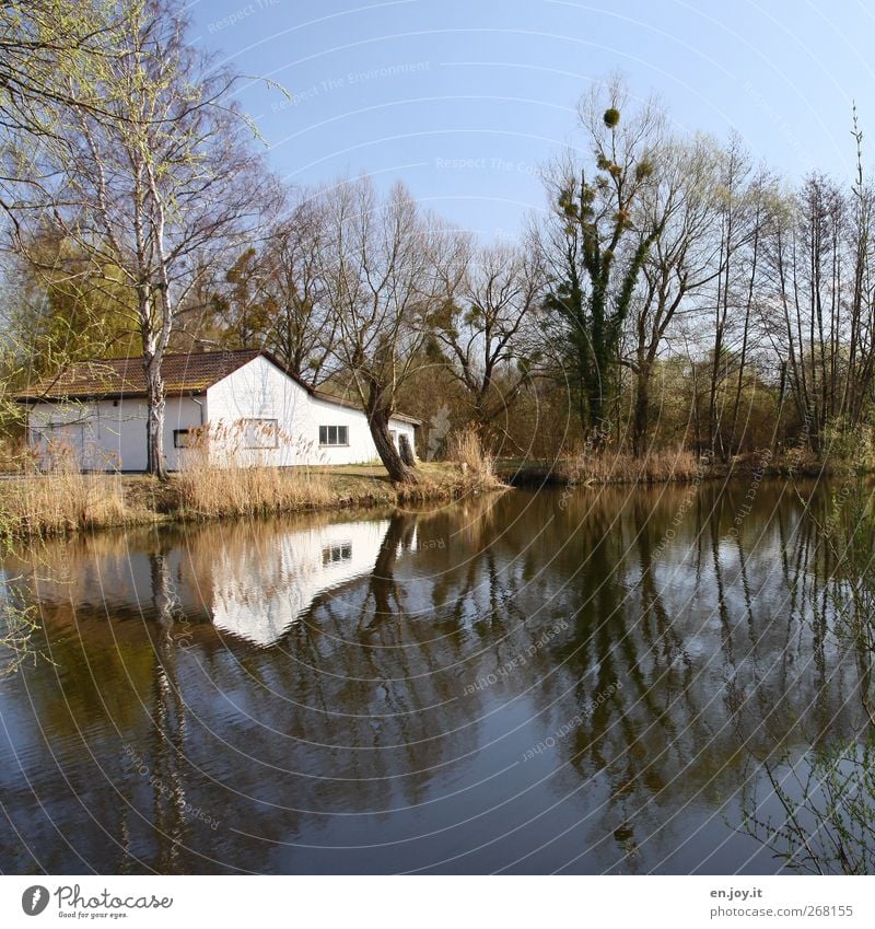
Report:
[[[114,618],[158,616],[177,640],[209,616],[223,634],[258,647],[278,642],[322,594],[342,599],[346,585],[374,572],[388,520],[290,530],[280,523],[241,523],[189,531],[160,558],[138,545],[57,549],[62,571],[40,581],[43,603]],[[399,558],[418,550],[416,526],[396,543]],[[49,562],[54,564],[54,562]],[[60,564],[60,562],[58,562]],[[69,577],[68,577],[69,572]],[[162,609],[167,612],[162,616]]]

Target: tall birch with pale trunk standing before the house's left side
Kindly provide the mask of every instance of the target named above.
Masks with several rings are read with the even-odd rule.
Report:
[[[105,106],[79,105],[70,79],[62,144],[45,147],[50,182],[33,204],[94,269],[120,275],[142,346],[148,471],[160,478],[161,365],[177,315],[270,187],[230,96],[235,76],[188,46],[186,30],[170,0],[124,10],[116,54],[81,78]]]

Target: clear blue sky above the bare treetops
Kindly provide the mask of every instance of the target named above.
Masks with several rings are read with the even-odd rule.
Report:
[[[791,178],[850,177],[851,102],[875,165],[875,8],[861,0],[200,0],[197,42],[246,74],[278,173],[402,178],[486,239],[541,209],[539,166],[582,141],[575,104],[621,70],[681,130],[737,131]]]

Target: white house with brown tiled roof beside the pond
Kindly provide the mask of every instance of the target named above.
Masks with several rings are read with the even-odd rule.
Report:
[[[170,471],[186,456],[212,464],[358,464],[377,458],[368,419],[351,400],[290,374],[268,352],[166,356],[164,455]],[[28,442],[48,466],[59,450],[89,471],[144,471],[145,381],[140,358],[70,365],[19,397],[28,405]],[[419,420],[397,414],[397,445],[415,448]]]

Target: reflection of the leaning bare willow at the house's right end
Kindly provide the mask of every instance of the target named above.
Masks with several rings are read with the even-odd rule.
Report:
[[[430,533],[439,534],[440,519],[431,523]],[[419,802],[432,773],[452,757],[441,732],[468,722],[458,683],[442,673],[459,660],[459,643],[446,630],[435,634],[439,605],[429,608],[428,593],[399,571],[415,557],[421,530],[416,514],[394,514],[373,572],[317,597],[283,640],[294,657],[283,677],[291,694],[287,731],[308,743],[303,767],[318,766],[322,758],[324,769],[343,783],[347,808],[383,809],[397,792],[407,803]],[[469,729],[454,741],[468,743],[464,752],[474,748],[475,739]],[[273,754],[262,747],[268,757]],[[296,780],[306,797],[302,805],[336,805],[335,781]]]

